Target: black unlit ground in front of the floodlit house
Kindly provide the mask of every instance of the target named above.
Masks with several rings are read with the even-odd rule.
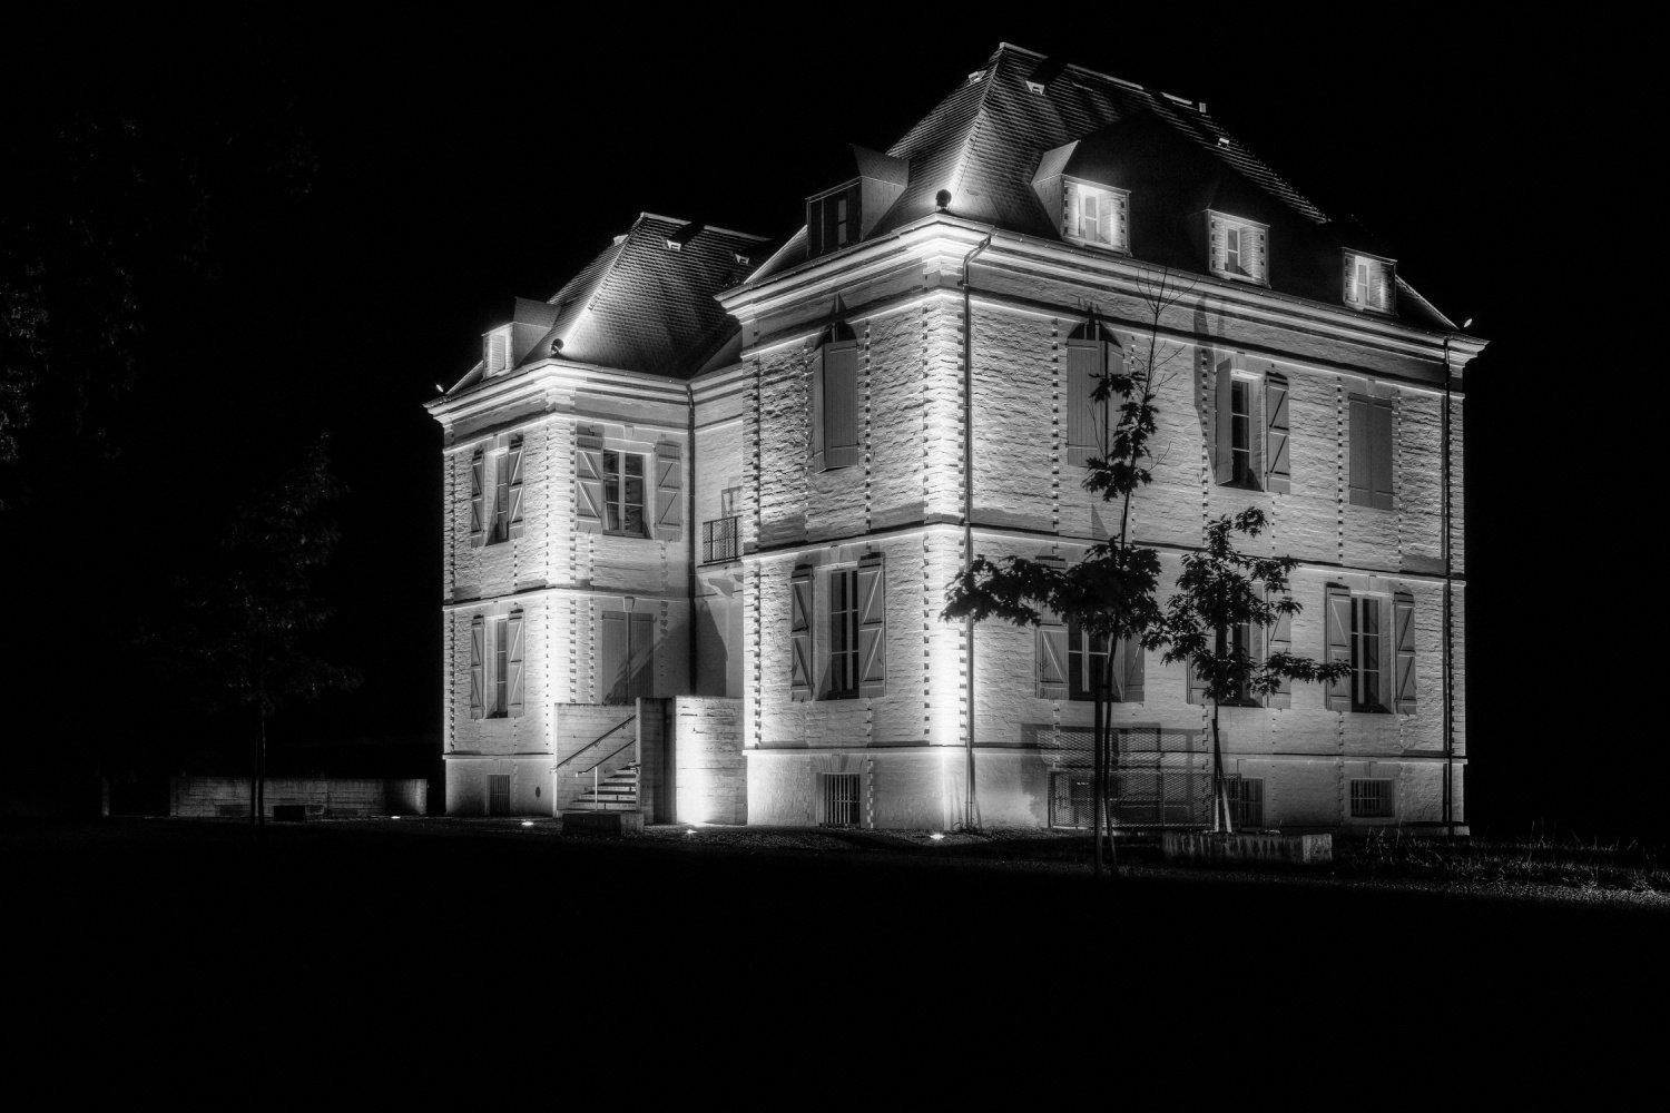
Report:
[[[264,843],[232,823],[13,824],[5,1020],[38,1041],[37,1065],[144,1048],[154,1070],[391,1055],[444,1070],[491,1050],[488,1073],[590,1063],[636,1086],[675,1050],[767,1046],[812,1075],[832,1048],[1004,1075],[1102,1040],[1142,1056],[1201,1040],[1476,1056],[1493,1031],[1665,1008],[1657,894],[1152,866],[1094,884],[1070,848],[1044,858],[516,821],[271,826]]]

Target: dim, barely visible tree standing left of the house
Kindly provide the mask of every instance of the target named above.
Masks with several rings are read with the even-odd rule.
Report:
[[[245,502],[227,524],[212,567],[182,581],[184,619],[169,654],[210,708],[254,718],[250,821],[266,821],[267,723],[289,703],[357,687],[359,676],[307,649],[331,617],[314,591],[331,561],[337,527],[331,506],[344,494],[327,442]]]

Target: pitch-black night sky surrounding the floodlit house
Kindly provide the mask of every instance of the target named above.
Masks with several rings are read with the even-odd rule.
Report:
[[[140,606],[190,531],[159,534],[135,507],[204,469],[259,476],[326,429],[352,487],[331,642],[367,682],[287,729],[436,733],[439,432],[421,409],[433,384],[468,369],[513,295],[548,297],[640,210],[785,235],[845,144],[888,147],[1009,40],[1206,100],[1495,342],[1470,377],[1470,804],[1503,824],[1607,826],[1615,789],[1602,783],[1663,768],[1617,699],[1630,684],[1608,682],[1648,669],[1598,662],[1623,624],[1605,617],[1615,589],[1593,584],[1617,582],[1607,566],[1645,507],[1623,517],[1578,474],[1598,452],[1628,472],[1633,456],[1615,446],[1643,431],[1645,407],[1573,389],[1605,362],[1607,340],[1585,325],[1617,294],[1602,275],[1618,199],[1597,180],[1622,169],[1600,122],[1630,112],[1632,93],[1605,88],[1623,63],[1598,53],[1593,30],[1409,5],[1354,22],[1244,5],[1089,22],[1059,5],[1002,22],[974,10],[877,8],[885,27],[845,20],[850,42],[718,8],[581,22],[548,5],[444,23],[284,13],[200,27],[190,45],[145,25],[78,35],[70,60],[35,52],[23,72],[43,113],[250,107],[294,127],[316,162],[306,197],[250,190],[249,209],[222,214],[222,274],[154,307],[127,454],[89,497],[119,527],[78,574]],[[27,53],[30,37],[13,45]],[[1561,421],[1580,405],[1593,429]],[[1600,744],[1622,744],[1628,773],[1602,766]],[[1645,796],[1627,809],[1658,813]]]

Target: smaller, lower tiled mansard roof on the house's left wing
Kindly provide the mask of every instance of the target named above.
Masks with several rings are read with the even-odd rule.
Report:
[[[736,332],[715,294],[738,285],[765,252],[758,235],[640,214],[551,297],[554,322],[519,352],[516,365],[556,355],[688,377]],[[524,315],[518,314],[518,324]],[[476,385],[483,372],[476,364],[448,394]]]

